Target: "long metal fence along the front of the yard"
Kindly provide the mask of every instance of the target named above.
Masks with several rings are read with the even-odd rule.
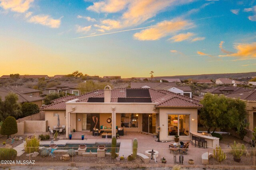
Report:
[[[166,163],[194,165],[255,166],[256,150],[169,148],[0,148],[0,160],[17,162]],[[152,154],[153,150],[153,154]],[[137,154],[136,154],[137,152]],[[133,155],[134,153],[134,155]],[[136,155],[135,155],[136,154]],[[131,156],[129,156],[131,155]],[[163,160],[163,158],[165,160]],[[2,164],[2,162],[1,162]]]

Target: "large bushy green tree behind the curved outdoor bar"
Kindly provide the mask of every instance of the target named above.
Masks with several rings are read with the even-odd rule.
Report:
[[[206,94],[201,104],[204,107],[200,112],[200,123],[209,127],[208,133],[212,127],[214,128],[212,133],[216,131],[217,127],[221,129],[238,127],[246,117],[246,104],[239,99]]]

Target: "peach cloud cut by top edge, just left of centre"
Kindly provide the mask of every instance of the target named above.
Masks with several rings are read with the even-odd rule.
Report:
[[[94,12],[106,12],[106,13],[114,13],[123,10],[128,4],[127,0],[106,0],[100,2],[94,2],[92,6],[86,8],[87,10],[91,10]]]

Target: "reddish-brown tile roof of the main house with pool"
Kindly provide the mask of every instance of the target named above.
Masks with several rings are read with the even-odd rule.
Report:
[[[129,89],[145,89],[145,88],[129,88]],[[169,92],[166,90],[154,90],[148,88],[151,101],[153,103],[158,103],[157,107],[202,107],[199,101],[194,100],[192,98],[182,96],[180,94],[176,94],[173,92]],[[54,104],[50,104],[48,106],[41,107],[43,110],[49,109],[66,109],[66,100],[74,100],[78,99],[76,102],[88,102],[88,98],[104,98],[104,90],[95,90],[93,92],[89,92],[86,94],[82,94],[80,96],[68,97],[65,96],[63,98],[59,98],[53,100]],[[126,88],[115,88],[111,90],[111,102],[117,103],[118,98],[127,98],[126,96]],[[143,98],[143,97],[139,97]],[[147,98],[147,97],[145,97]],[[64,101],[65,100],[65,101]]]

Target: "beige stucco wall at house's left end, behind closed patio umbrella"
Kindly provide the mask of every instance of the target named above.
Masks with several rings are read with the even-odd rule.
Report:
[[[57,126],[58,123],[58,117],[53,116],[54,113],[58,113],[60,117],[60,126],[66,125],[66,118],[65,118],[65,113],[66,111],[64,110],[46,110],[45,111],[45,120],[47,120],[47,126],[50,126],[50,128],[53,128],[53,126]]]

